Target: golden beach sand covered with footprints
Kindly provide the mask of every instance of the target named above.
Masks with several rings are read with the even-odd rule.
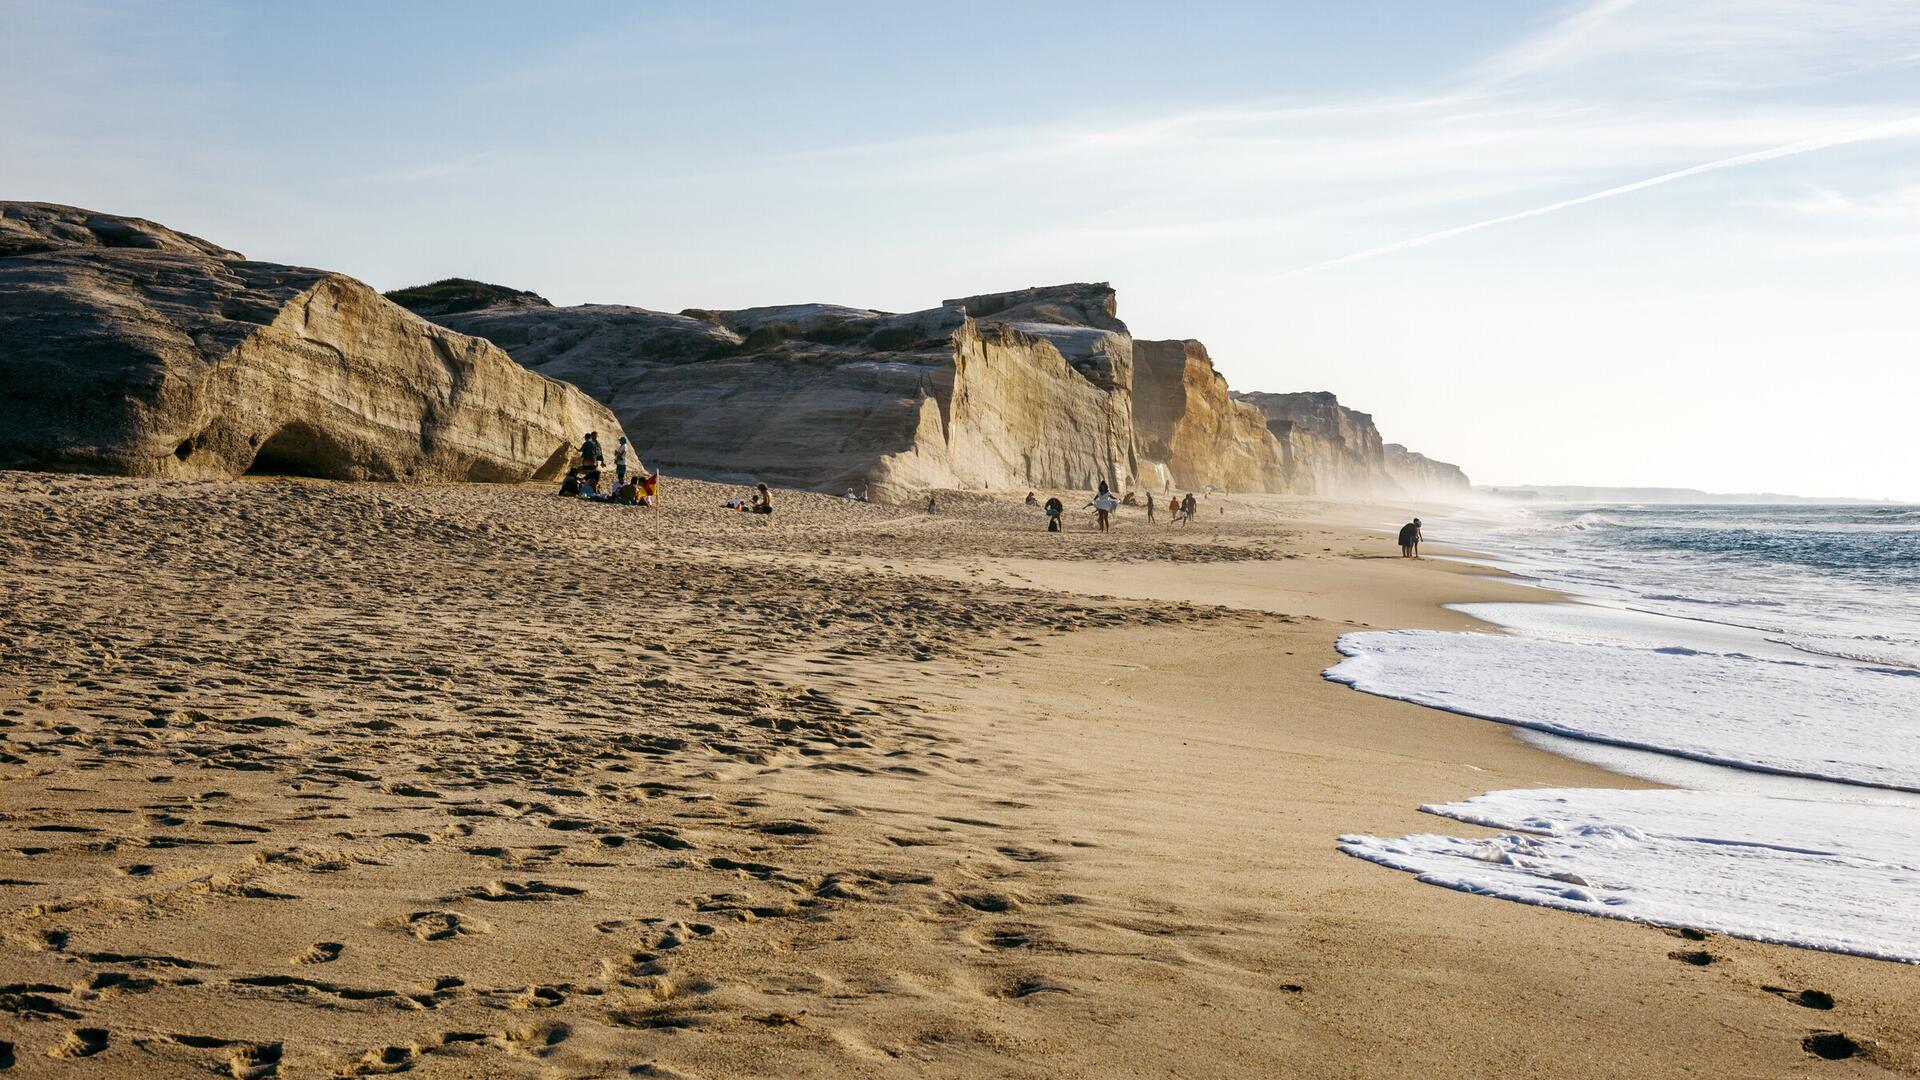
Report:
[[[0,1070],[1920,1072],[1920,969],[1334,851],[1630,784],[1319,678],[1521,594],[1396,509],[733,494],[0,475]]]

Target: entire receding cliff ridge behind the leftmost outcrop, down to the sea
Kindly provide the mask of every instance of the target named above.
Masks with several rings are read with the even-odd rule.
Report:
[[[1332,394],[1233,394],[1204,344],[1135,340],[1104,282],[908,313],[524,300],[445,311],[413,292],[390,296],[611,404],[649,463],[695,477],[822,490],[1467,490],[1450,465],[1390,455],[1373,419]]]

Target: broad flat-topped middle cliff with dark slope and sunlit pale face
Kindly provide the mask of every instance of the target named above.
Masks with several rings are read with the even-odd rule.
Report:
[[[1131,486],[1133,340],[1106,284],[893,315],[488,307],[436,319],[609,402],[676,473],[843,490]]]

